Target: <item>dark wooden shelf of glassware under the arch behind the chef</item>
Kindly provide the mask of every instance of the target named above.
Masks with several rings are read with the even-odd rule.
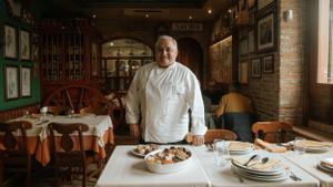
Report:
[[[103,58],[105,89],[127,92],[137,70],[151,61],[151,56]]]

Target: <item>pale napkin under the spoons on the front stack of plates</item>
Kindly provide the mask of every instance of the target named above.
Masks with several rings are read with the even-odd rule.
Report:
[[[244,165],[248,160],[249,157],[233,157],[232,158],[234,163],[239,165]],[[262,170],[262,172],[269,172],[273,170],[274,168],[281,168],[281,160],[276,158],[269,158],[266,163],[260,163],[260,159],[250,162],[248,165],[248,168],[254,169],[254,170]]]

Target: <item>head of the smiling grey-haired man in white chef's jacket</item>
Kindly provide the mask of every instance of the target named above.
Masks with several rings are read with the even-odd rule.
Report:
[[[155,49],[155,61],[161,67],[168,67],[175,62],[178,51],[170,39],[162,39]]]

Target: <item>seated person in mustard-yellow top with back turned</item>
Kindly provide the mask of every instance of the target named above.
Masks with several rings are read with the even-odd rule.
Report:
[[[216,117],[221,117],[222,128],[236,133],[239,141],[253,141],[251,127],[254,115],[251,100],[239,93],[236,83],[229,86],[229,94],[222,96],[214,113]]]

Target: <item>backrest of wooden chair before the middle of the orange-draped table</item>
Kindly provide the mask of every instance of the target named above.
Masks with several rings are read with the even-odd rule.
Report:
[[[82,133],[88,132],[88,129],[89,126],[81,123],[49,124],[51,152],[56,160],[56,166],[85,165]],[[58,135],[56,133],[58,133]],[[75,142],[71,136],[79,138],[79,149],[75,149]]]

